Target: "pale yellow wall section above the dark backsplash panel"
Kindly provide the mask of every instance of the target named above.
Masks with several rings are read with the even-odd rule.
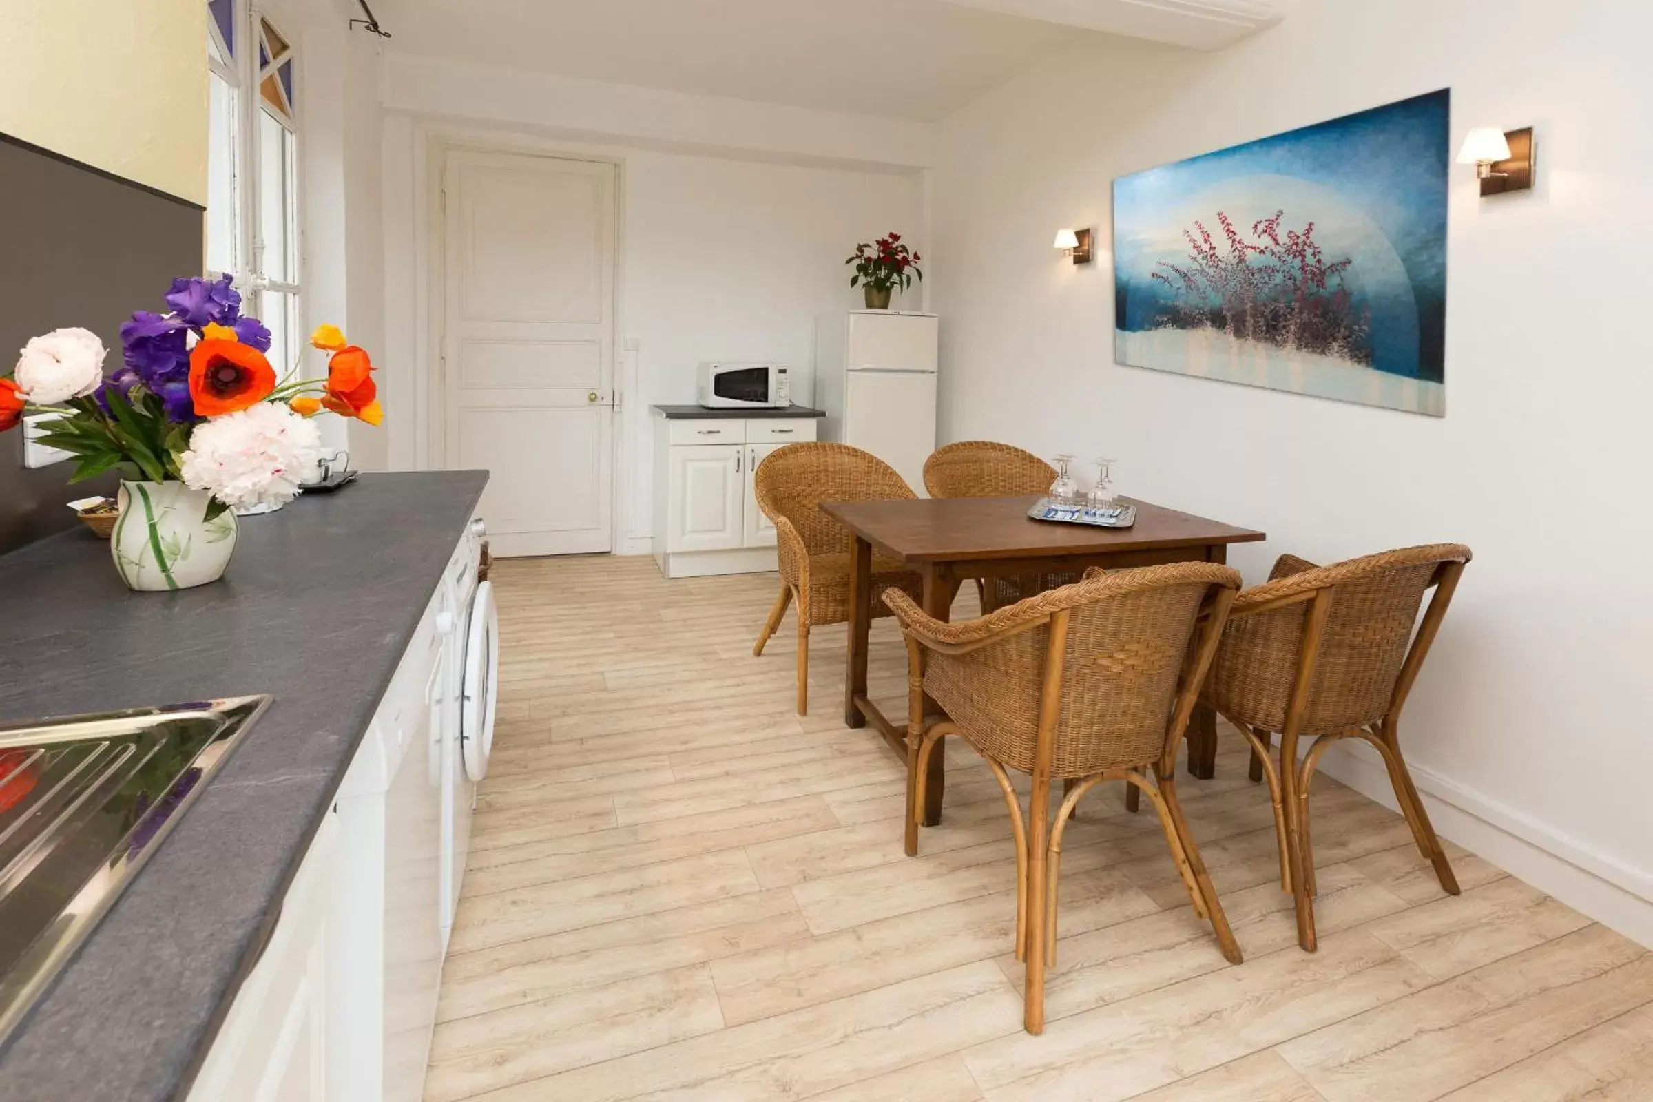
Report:
[[[207,202],[207,5],[5,0],[0,132]]]

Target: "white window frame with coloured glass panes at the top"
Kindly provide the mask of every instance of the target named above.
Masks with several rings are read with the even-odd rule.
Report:
[[[205,5],[207,0],[202,0]],[[299,94],[304,91],[302,71],[299,69],[298,51],[294,48],[294,40],[288,35],[278,20],[256,0],[231,0],[233,5],[233,26],[235,26],[235,55],[230,63],[218,63],[208,53],[208,68],[212,73],[220,76],[225,83],[235,89],[235,134],[231,135],[231,195],[235,203],[235,240],[231,245],[231,256],[235,271],[235,286],[241,292],[243,307],[246,314],[263,319],[268,302],[266,291],[279,292],[284,296],[293,296],[293,319],[294,332],[291,339],[296,344],[302,344],[302,335],[296,332],[298,325],[302,324],[302,273],[306,271],[306,249],[304,249],[304,221],[302,221],[302,195],[299,188],[299,180],[302,173],[299,172],[299,164],[304,159],[304,139],[299,127]],[[260,64],[258,51],[263,41],[261,23],[269,23],[286,41],[286,50],[279,55],[269,58],[266,64]],[[207,33],[217,36],[217,25],[212,15],[207,17]],[[294,76],[294,93],[291,104],[293,114],[281,116],[279,112],[269,109],[264,104],[263,81],[266,76],[276,74],[279,68],[291,61]],[[279,79],[279,76],[276,78]],[[286,236],[288,248],[291,249],[288,276],[289,279],[271,279],[264,271],[264,240],[260,226],[261,211],[261,142],[260,142],[260,124],[261,114],[268,114],[276,124],[286,129],[293,135],[293,159],[288,164],[288,175],[283,183],[289,202],[286,203]],[[208,135],[217,137],[217,135]],[[210,223],[208,223],[210,225]],[[208,271],[210,276],[222,276],[222,271]],[[268,324],[268,322],[266,322]],[[291,363],[274,365],[278,373],[286,372]]]

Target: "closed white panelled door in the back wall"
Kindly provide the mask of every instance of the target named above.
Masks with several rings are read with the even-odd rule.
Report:
[[[496,555],[610,550],[615,167],[453,152],[443,208],[443,466]]]

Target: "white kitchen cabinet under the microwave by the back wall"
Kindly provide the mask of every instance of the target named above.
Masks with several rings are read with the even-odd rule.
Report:
[[[775,568],[775,525],[754,474],[775,448],[815,439],[813,416],[668,418],[655,428],[655,562],[668,578]]]

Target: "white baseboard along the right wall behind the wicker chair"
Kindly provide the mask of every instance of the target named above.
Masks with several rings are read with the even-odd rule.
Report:
[[[1653,872],[1603,854],[1430,768],[1410,762],[1407,767],[1441,838],[1653,948]],[[1321,758],[1321,772],[1398,810],[1389,772],[1367,745],[1351,739],[1331,747]]]

